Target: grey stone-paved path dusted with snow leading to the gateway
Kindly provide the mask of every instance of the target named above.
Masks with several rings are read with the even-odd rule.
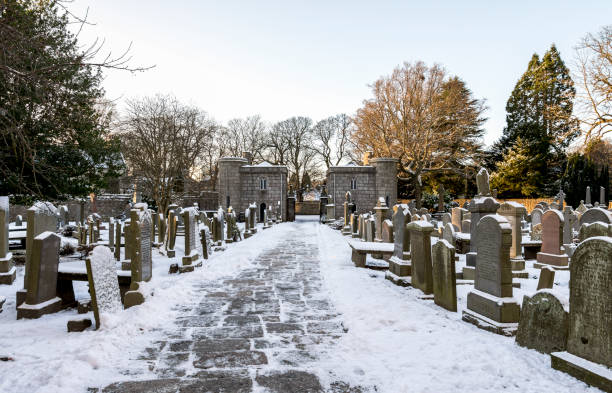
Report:
[[[159,379],[102,391],[361,392],[342,381],[323,386],[309,371],[344,333],[341,316],[322,292],[311,228],[293,224],[251,268],[198,288],[202,297],[181,307],[167,340],[139,359]]]

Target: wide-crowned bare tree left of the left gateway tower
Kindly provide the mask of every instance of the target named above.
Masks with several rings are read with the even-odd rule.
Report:
[[[122,151],[133,175],[165,212],[181,182],[202,174],[217,124],[196,107],[172,96],[128,101],[121,123]]]

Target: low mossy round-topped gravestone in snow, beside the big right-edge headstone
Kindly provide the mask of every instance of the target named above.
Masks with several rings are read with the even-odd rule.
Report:
[[[541,353],[565,351],[568,313],[551,292],[523,297],[516,343]]]

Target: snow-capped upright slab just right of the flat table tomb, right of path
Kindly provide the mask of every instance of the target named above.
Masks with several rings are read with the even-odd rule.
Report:
[[[413,287],[425,295],[433,293],[431,263],[431,232],[434,227],[427,221],[412,221],[406,226],[410,231],[411,279]]]

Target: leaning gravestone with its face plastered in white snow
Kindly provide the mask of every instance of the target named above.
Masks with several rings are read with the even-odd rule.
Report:
[[[85,263],[91,306],[96,320],[96,329],[98,329],[104,314],[113,314],[123,308],[117,270],[113,253],[106,246],[94,248]]]

